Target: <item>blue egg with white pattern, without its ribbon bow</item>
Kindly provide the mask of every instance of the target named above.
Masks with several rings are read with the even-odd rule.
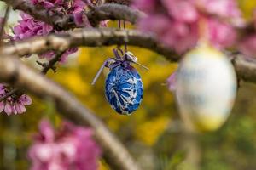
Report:
[[[131,65],[113,68],[106,79],[105,94],[111,107],[122,115],[137,110],[143,99],[143,82]]]

